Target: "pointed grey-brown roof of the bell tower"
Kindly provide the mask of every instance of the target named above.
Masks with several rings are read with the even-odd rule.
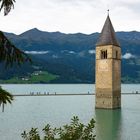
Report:
[[[115,31],[114,31],[109,15],[106,18],[102,32],[96,43],[96,46],[103,46],[103,45],[115,45],[118,47],[120,46],[119,42],[116,39]]]

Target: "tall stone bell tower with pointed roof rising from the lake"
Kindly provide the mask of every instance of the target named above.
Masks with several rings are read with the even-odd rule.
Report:
[[[96,44],[96,108],[121,107],[121,48],[109,15]]]

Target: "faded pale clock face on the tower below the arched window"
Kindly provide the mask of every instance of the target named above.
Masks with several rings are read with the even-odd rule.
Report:
[[[100,60],[98,63],[98,70],[99,71],[108,71],[108,63],[107,60]]]

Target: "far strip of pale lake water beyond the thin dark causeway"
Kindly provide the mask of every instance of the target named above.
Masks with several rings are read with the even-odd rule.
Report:
[[[49,92],[50,94],[60,93],[95,93],[94,84],[3,84],[1,85],[4,89],[8,90],[13,94],[30,94],[30,92]],[[122,93],[140,93],[139,84],[122,84]]]

